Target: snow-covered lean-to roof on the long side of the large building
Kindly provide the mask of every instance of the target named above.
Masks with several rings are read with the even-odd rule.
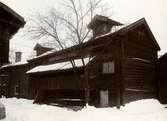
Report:
[[[84,60],[85,65],[87,65],[89,63],[89,61],[92,60],[92,58],[84,58],[83,60]],[[74,62],[75,62],[76,67],[82,67],[83,66],[83,63],[82,63],[81,59],[75,59]],[[65,69],[70,69],[70,68],[72,68],[71,62],[66,61],[66,62],[55,63],[55,64],[50,64],[50,65],[37,66],[37,67],[27,71],[27,73],[65,70]]]

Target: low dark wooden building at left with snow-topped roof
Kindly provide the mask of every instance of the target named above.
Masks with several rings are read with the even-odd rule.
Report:
[[[27,62],[17,62],[0,67],[0,73],[2,77],[4,76],[1,78],[5,84],[5,92],[1,94],[6,97],[31,98],[28,89],[28,77],[26,75],[28,69],[29,65]]]

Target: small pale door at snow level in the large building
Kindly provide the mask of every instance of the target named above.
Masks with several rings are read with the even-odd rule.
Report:
[[[109,105],[108,90],[100,90],[100,105],[106,107]]]

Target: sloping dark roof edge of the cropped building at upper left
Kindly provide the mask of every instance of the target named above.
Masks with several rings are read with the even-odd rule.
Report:
[[[24,18],[20,16],[19,14],[17,14],[15,11],[13,11],[11,8],[9,8],[7,5],[0,2],[0,7],[3,8],[8,13],[10,13],[11,15],[13,15],[15,18],[17,18],[22,23],[25,23]]]

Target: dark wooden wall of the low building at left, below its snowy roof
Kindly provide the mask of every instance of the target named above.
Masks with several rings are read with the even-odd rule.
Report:
[[[26,71],[28,70],[27,65],[7,67],[1,69],[1,74],[8,76],[7,83],[7,92],[8,97],[20,97],[20,98],[29,98],[28,94],[28,76]],[[19,94],[15,95],[15,86],[19,86]]]

